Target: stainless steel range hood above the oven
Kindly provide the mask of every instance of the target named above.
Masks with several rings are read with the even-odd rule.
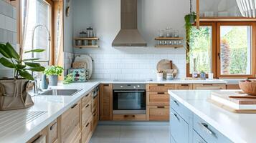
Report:
[[[147,46],[137,28],[137,0],[121,0],[121,29],[112,46]]]

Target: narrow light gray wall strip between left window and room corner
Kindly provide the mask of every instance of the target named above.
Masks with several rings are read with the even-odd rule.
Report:
[[[73,10],[72,6],[74,0],[70,0],[70,16],[66,16],[67,0],[64,1],[64,51],[72,53],[72,41],[73,41]]]

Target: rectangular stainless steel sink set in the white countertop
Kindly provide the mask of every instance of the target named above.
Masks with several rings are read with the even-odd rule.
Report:
[[[45,92],[39,93],[39,95],[49,96],[72,96],[80,92],[82,89],[49,89]]]

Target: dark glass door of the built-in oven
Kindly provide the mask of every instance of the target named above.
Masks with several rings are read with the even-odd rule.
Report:
[[[118,91],[113,92],[114,110],[146,110],[146,92],[137,91]]]

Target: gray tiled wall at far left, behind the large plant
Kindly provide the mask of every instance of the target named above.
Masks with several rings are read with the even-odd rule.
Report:
[[[16,46],[16,8],[0,0],[0,43],[6,42]],[[13,70],[0,64],[0,79],[12,76]]]

